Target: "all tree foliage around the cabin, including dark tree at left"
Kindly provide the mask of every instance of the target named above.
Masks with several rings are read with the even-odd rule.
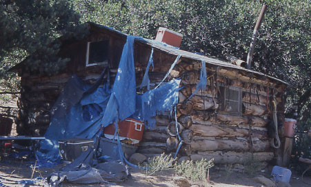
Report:
[[[55,39],[83,36],[81,22],[85,21],[150,39],[163,26],[183,35],[184,50],[220,58],[230,54],[245,60],[263,4],[268,8],[252,69],[288,81],[291,87],[285,112],[291,117],[297,110],[299,121],[307,121],[311,113],[308,0],[1,0],[0,73],[3,77],[4,70],[28,55],[26,68],[32,72],[56,72],[68,59],[56,57],[59,42]]]

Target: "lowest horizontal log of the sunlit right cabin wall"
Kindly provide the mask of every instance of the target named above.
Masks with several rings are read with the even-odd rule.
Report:
[[[274,157],[273,152],[254,152],[255,161],[270,161]],[[214,164],[245,164],[245,161],[252,159],[251,152],[223,152],[223,151],[206,151],[192,154],[190,158],[193,161],[201,159],[214,159]]]

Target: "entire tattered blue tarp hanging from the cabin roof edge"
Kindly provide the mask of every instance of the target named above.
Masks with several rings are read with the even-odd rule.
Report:
[[[57,161],[60,139],[94,139],[101,127],[134,117],[146,121],[152,128],[157,112],[172,111],[178,103],[179,79],[163,83],[159,88],[143,95],[136,94],[133,43],[135,37],[128,36],[119,62],[119,68],[112,89],[101,79],[94,85],[84,83],[72,76],[52,110],[52,120],[46,131],[46,140],[41,141],[37,152],[39,161]],[[152,55],[151,55],[152,56]],[[178,61],[175,60],[174,64]],[[172,67],[174,67],[174,64]]]

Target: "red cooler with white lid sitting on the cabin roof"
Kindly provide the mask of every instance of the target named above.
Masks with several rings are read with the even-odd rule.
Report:
[[[181,46],[181,39],[183,39],[183,35],[169,30],[167,28],[159,28],[157,32],[157,37],[155,41],[161,41],[164,43],[168,43],[171,46],[175,46],[179,48]]]

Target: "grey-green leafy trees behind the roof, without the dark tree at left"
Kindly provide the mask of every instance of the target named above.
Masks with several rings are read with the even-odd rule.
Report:
[[[252,68],[288,81],[286,112],[301,121],[311,112],[311,6],[308,0],[72,0],[83,21],[154,39],[163,26],[183,35],[181,48],[208,56],[246,60],[263,4]]]

